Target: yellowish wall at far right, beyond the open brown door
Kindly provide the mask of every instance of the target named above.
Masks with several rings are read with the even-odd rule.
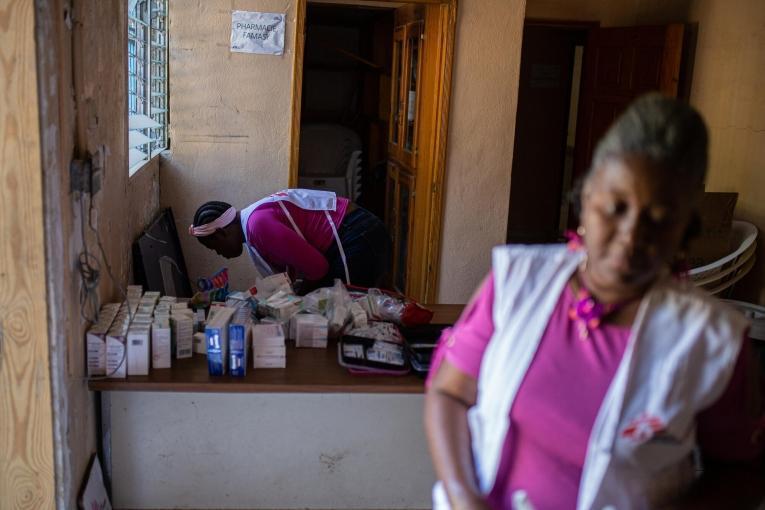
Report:
[[[691,103],[709,126],[710,191],[739,193],[736,218],[765,234],[765,2],[695,0],[698,22]],[[765,304],[765,244],[739,298]]]

